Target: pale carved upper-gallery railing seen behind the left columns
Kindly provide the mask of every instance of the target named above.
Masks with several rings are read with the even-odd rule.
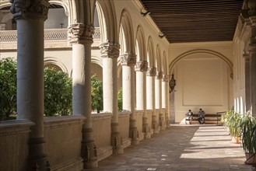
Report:
[[[65,41],[68,39],[68,29],[47,29],[44,30],[44,40],[46,41]],[[94,40],[100,40],[100,27],[96,27],[94,34]],[[0,31],[0,42],[2,43],[14,43],[17,41],[16,30],[2,30]]]

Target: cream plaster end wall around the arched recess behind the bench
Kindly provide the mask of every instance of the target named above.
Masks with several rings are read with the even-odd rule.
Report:
[[[170,44],[169,59],[174,60],[181,54],[199,49],[223,54],[233,61],[232,42]],[[230,84],[231,71],[226,62],[216,55],[188,54],[177,62],[173,72],[177,80],[174,92],[175,122],[184,120],[189,109],[198,113],[202,108],[205,113],[212,114],[233,106],[233,102],[230,102],[230,97],[233,96],[230,91],[233,89]]]

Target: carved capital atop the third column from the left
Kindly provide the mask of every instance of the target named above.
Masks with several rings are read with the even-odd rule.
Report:
[[[106,42],[100,44],[100,54],[102,58],[118,58],[119,56],[119,44]]]

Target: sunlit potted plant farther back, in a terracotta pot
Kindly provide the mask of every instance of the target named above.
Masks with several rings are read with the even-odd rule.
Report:
[[[232,141],[234,143],[240,143],[240,137],[241,137],[240,125],[241,125],[242,115],[233,110],[229,110],[228,112],[226,112],[225,117],[226,117],[226,122],[224,125],[227,127],[228,131],[230,132]]]

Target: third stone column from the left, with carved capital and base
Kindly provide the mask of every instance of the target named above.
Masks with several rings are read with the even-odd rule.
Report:
[[[123,140],[118,126],[117,107],[117,58],[119,44],[106,42],[100,44],[100,53],[103,58],[103,110],[113,113],[111,120],[111,145],[114,154],[124,153]]]

